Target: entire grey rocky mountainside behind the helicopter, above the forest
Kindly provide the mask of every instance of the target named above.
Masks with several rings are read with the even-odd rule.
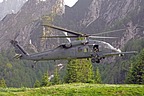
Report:
[[[66,6],[64,12],[63,0],[28,0],[17,13],[6,15],[0,21],[0,49],[7,48],[8,41],[15,38],[23,46],[31,44],[35,50],[53,46],[54,42],[41,43],[39,38],[44,30],[41,17],[53,12],[61,15],[56,24],[75,31],[94,34],[126,28],[125,32],[108,35],[120,37],[110,42],[115,47],[123,47],[132,38],[144,35],[143,5],[143,0],[79,0],[72,8]]]

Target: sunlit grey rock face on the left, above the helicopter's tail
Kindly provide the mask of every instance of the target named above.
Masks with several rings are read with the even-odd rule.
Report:
[[[16,14],[8,14],[0,21],[0,49],[9,47],[10,39],[23,46],[40,46],[42,34],[41,17],[52,13],[61,0],[29,0]],[[56,8],[55,8],[56,9]]]

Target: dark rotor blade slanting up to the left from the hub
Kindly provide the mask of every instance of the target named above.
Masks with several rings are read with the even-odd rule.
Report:
[[[84,34],[82,34],[82,33],[75,32],[75,31],[68,30],[68,29],[61,28],[61,27],[54,26],[54,25],[43,24],[43,26],[47,26],[47,27],[50,27],[50,28],[53,28],[53,29],[57,29],[57,30],[60,30],[60,31],[65,31],[65,32],[67,32],[67,33],[70,33],[70,34],[73,34],[73,35],[77,35],[77,36],[83,36],[83,35],[84,35]]]

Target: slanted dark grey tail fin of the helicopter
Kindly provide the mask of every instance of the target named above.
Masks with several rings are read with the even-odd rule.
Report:
[[[24,51],[17,41],[11,40],[10,43],[14,46],[15,52],[19,55],[19,57],[28,56],[28,53]]]

